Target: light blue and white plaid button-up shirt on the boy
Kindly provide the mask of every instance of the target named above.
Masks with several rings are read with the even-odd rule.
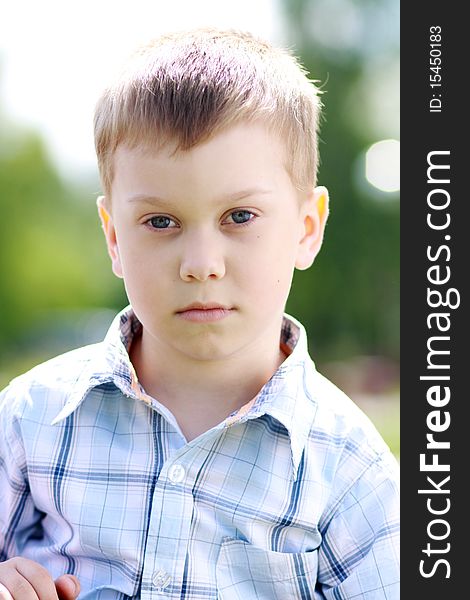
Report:
[[[309,358],[187,442],[129,361],[131,309],[105,340],[0,396],[0,560],[21,555],[80,599],[397,599],[397,463]]]

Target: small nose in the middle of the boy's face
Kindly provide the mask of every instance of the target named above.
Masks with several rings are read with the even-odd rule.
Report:
[[[225,275],[225,259],[215,232],[199,231],[188,235],[180,265],[183,281],[221,279]]]

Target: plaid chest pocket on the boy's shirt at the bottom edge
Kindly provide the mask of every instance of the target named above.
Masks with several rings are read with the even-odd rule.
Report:
[[[273,552],[240,540],[222,543],[216,576],[219,600],[313,600],[318,552]]]

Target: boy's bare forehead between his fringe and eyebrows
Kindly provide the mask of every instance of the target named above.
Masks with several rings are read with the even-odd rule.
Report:
[[[113,188],[154,185],[281,184],[288,176],[286,148],[277,134],[261,123],[242,123],[209,140],[179,150],[176,141],[161,148],[121,144],[113,159]]]

